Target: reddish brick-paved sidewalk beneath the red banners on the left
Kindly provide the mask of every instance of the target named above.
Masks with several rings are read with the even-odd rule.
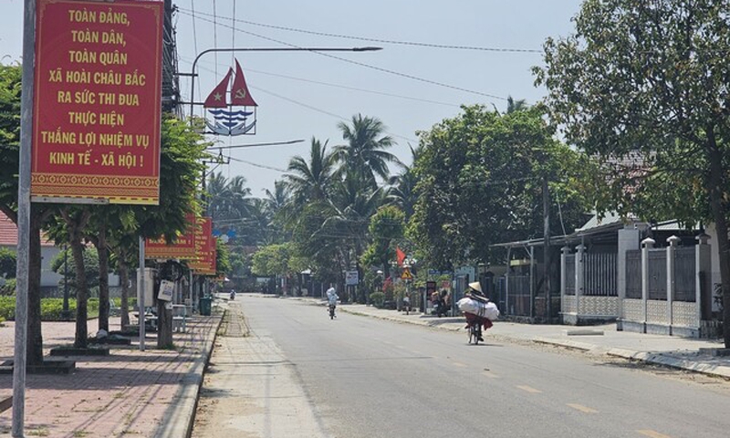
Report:
[[[75,360],[68,375],[26,375],[25,436],[185,437],[192,427],[203,370],[213,346],[223,308],[187,320],[185,333],[172,335],[174,349],[157,349],[155,333],[131,346],[110,346],[109,356],[49,357],[48,350],[73,344],[74,322],[44,322],[46,360]],[[98,321],[89,320],[89,335]],[[110,318],[110,330],[120,318]],[[0,360],[12,360],[15,327],[0,327]],[[13,394],[12,374],[0,375],[0,397]],[[12,409],[0,413],[0,436],[10,436]]]

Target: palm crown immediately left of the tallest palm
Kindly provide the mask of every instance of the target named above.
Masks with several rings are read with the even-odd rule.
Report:
[[[284,178],[297,210],[305,203],[327,199],[334,181],[334,164],[334,155],[327,151],[327,141],[322,144],[314,137],[309,162],[298,155],[291,159]]]

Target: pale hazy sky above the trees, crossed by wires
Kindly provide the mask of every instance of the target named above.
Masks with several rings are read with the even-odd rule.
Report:
[[[22,0],[0,0],[0,57],[22,53]],[[221,145],[304,142],[231,150],[218,167],[244,175],[255,196],[273,189],[294,155],[308,158],[312,137],[342,142],[339,121],[376,117],[410,163],[408,144],[459,113],[462,104],[505,110],[507,96],[534,103],[530,72],[541,65],[547,36],[568,36],[579,0],[176,0],[179,68],[209,48],[383,47],[377,52],[209,53],[197,64],[195,101],[202,101],[237,58],[258,104],[255,135],[220,137]],[[193,19],[194,16],[194,19]],[[233,29],[236,29],[235,32]],[[415,44],[414,44],[415,43]],[[469,47],[469,48],[456,48]],[[191,83],[181,78],[184,101]],[[189,107],[184,107],[189,113]],[[196,109],[202,114],[202,109]],[[236,161],[237,160],[237,161]],[[244,161],[244,162],[241,162]]]

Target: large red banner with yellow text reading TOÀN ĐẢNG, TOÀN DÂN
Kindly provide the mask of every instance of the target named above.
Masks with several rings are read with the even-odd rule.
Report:
[[[33,201],[159,203],[162,7],[37,0]]]

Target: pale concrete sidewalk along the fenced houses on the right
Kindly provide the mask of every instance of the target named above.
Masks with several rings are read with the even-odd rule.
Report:
[[[318,299],[312,300],[322,304]],[[396,310],[386,310],[360,304],[338,306],[338,310],[392,321],[464,332],[464,318],[438,318],[430,315],[406,315]],[[606,354],[628,360],[664,365],[681,370],[691,370],[730,379],[730,356],[714,356],[711,349],[723,349],[721,340],[687,339],[675,336],[659,336],[629,331],[618,331],[615,324],[590,327],[560,325],[532,325],[496,321],[485,337],[505,341],[531,341],[579,349],[590,354]]]

